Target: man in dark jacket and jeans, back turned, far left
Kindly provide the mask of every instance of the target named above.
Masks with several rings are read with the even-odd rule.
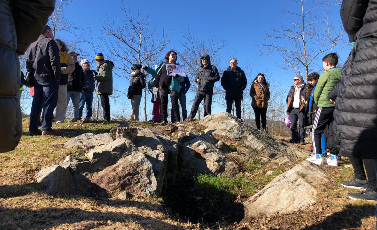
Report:
[[[52,30],[46,25],[38,40],[27,50],[26,67],[34,71],[34,99],[31,105],[29,135],[61,135],[53,130],[52,113],[58,102],[60,82],[59,49],[52,39]],[[35,59],[34,59],[35,57]],[[38,130],[40,108],[42,112],[42,132]]]

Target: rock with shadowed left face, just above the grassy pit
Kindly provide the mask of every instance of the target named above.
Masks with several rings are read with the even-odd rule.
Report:
[[[183,144],[179,156],[182,167],[191,172],[226,176],[239,172],[237,165],[229,162],[221,150],[200,136]]]

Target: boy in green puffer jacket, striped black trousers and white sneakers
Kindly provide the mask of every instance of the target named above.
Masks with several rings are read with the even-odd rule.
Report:
[[[337,155],[339,153],[335,146],[335,132],[334,132],[334,117],[333,112],[335,105],[331,103],[327,98],[327,94],[338,84],[342,69],[335,68],[338,64],[338,55],[330,53],[323,57],[323,68],[325,72],[321,74],[318,79],[317,86],[314,90],[314,102],[318,105],[317,113],[314,119],[312,133],[313,133],[313,152],[316,153],[313,157],[306,160],[315,163],[322,164],[322,149],[321,149],[321,134],[329,126],[329,140],[328,148],[330,157],[324,164],[330,166],[338,166]]]

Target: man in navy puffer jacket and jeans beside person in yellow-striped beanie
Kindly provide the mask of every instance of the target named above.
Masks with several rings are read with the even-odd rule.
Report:
[[[86,118],[91,119],[93,110],[93,92],[94,92],[94,76],[97,72],[90,69],[90,62],[88,59],[81,59],[81,66],[84,73],[84,81],[82,82],[83,90],[80,92],[80,103],[79,103],[79,119],[83,116],[83,109],[86,104]]]

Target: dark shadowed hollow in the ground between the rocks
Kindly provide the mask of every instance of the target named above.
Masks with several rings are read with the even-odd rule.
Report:
[[[191,173],[178,173],[174,185],[166,191],[164,201],[181,218],[211,229],[244,218],[244,205],[236,202],[236,196],[214,185],[195,185]]]

